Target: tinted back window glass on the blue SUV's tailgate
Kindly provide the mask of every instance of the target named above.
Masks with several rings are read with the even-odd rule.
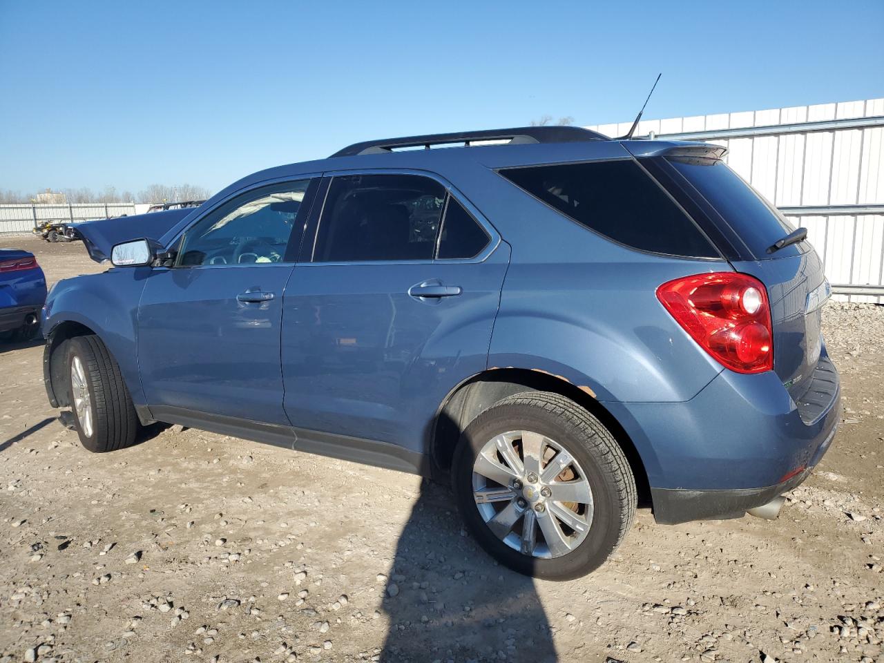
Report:
[[[767,249],[795,230],[724,162],[672,157],[669,163],[715,208],[756,258],[770,257]],[[786,247],[777,251],[776,257],[796,252],[795,247]]]

